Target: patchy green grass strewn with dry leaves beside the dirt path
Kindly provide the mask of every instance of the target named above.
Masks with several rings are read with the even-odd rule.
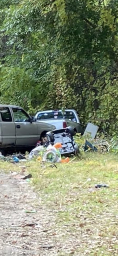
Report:
[[[58,256],[118,255],[116,155],[86,153],[83,160],[56,164],[57,169],[36,159],[17,165],[3,162],[2,169],[21,170],[21,165],[33,175],[41,204],[54,212],[55,241],[63,244]],[[109,188],[95,189],[99,183]]]

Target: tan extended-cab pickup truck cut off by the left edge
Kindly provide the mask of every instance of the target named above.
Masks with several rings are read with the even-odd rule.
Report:
[[[14,105],[0,105],[0,150],[34,147],[55,126],[37,122],[25,110]]]

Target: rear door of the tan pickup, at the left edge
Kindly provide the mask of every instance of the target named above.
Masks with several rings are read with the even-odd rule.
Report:
[[[15,123],[8,107],[0,107],[0,144],[2,146],[15,145],[16,128]]]

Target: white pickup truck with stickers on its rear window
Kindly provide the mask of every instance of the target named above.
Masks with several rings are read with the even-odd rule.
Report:
[[[61,110],[39,111],[36,113],[35,118],[38,122],[55,125],[56,129],[71,126],[76,129],[77,133],[83,132],[78,114],[74,109],[66,109],[64,112]]]

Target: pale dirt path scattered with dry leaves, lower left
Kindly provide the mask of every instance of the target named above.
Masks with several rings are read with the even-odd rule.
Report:
[[[40,207],[40,198],[26,181],[0,173],[1,256],[58,255],[54,224],[51,210]]]

